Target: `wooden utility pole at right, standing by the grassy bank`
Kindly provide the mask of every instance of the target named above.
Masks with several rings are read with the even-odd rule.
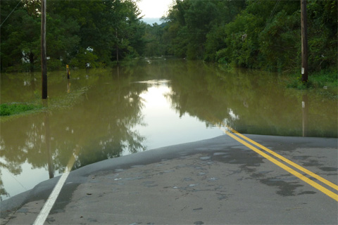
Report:
[[[301,82],[308,82],[308,22],[306,0],[301,0]]]

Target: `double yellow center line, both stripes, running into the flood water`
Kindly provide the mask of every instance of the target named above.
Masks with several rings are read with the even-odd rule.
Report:
[[[336,184],[333,184],[332,182],[327,181],[323,177],[318,176],[317,174],[309,171],[308,169],[305,169],[305,168],[301,167],[300,165],[297,165],[296,163],[288,160],[287,158],[282,157],[282,155],[279,155],[279,154],[275,153],[273,150],[270,150],[270,149],[262,146],[261,144],[257,143],[256,141],[253,141],[253,140],[249,139],[248,137],[246,137],[246,136],[244,136],[242,134],[239,134],[239,132],[235,131],[231,127],[228,127],[226,124],[223,124],[223,125],[225,125],[225,127],[227,127],[227,129],[229,129],[232,132],[232,133],[230,133],[226,129],[223,129],[223,131],[225,132],[225,134],[227,134],[230,137],[232,137],[232,139],[235,139],[239,143],[244,144],[244,146],[246,146],[246,147],[250,148],[251,150],[255,151],[256,153],[258,153],[259,155],[263,156],[267,160],[270,160],[270,162],[275,163],[275,165],[281,167],[282,169],[285,169],[290,174],[293,174],[294,176],[298,177],[299,179],[301,179],[302,181],[306,182],[307,184],[310,184],[314,188],[316,188],[319,191],[325,193],[325,195],[328,195],[330,198],[333,198],[334,200],[338,201],[338,195],[337,195],[337,193],[334,193],[334,192],[328,190],[327,188],[325,188],[324,186],[321,186],[320,184],[316,183],[315,181],[312,181],[311,179],[308,179],[308,177],[304,176],[303,174],[300,174],[299,172],[296,172],[296,170],[292,169],[291,167],[288,167],[284,163],[286,163],[288,165],[291,165],[292,167],[294,167],[296,169],[299,169],[301,172],[304,172],[305,174],[308,174],[308,175],[312,176],[313,178],[317,179],[318,181],[321,181],[323,184],[326,184],[327,186],[330,186],[331,188],[333,188],[336,191],[338,191],[338,186]],[[242,138],[242,139],[240,139],[239,137]],[[251,144],[249,144],[248,142],[246,142],[244,140],[249,141],[253,145],[257,146],[258,148],[261,148],[261,150],[258,150],[258,148],[252,146]],[[270,155],[264,153],[262,150],[265,150],[266,152],[268,152],[271,155],[275,156],[275,158],[278,158],[278,159],[282,160],[282,162],[284,162],[284,163],[282,163],[279,160],[276,160],[275,158],[271,157]]]

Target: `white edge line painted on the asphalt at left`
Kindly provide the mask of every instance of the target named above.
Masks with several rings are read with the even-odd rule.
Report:
[[[41,212],[37,216],[37,219],[35,219],[35,222],[33,225],[42,225],[44,224],[44,221],[46,221],[46,218],[49,215],[49,212],[51,211],[51,207],[53,207],[56,198],[58,198],[58,194],[61,191],[61,188],[63,184],[65,184],[65,180],[67,179],[70,172],[65,172],[62,174],[61,178],[58,180],[58,184],[54,187],[53,191],[51,192],[51,195],[49,195],[49,198],[47,199],[46,203],[44,204],[44,207],[42,208]]]

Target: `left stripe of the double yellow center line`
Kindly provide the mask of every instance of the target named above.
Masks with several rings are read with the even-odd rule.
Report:
[[[244,146],[246,146],[246,147],[250,148],[251,150],[255,151],[256,153],[258,153],[259,155],[263,156],[267,160],[270,160],[270,162],[275,163],[275,165],[281,167],[282,169],[285,169],[290,174],[293,174],[294,176],[298,177],[299,179],[301,179],[302,181],[306,182],[307,184],[310,184],[314,188],[316,188],[319,191],[325,193],[325,195],[328,195],[330,198],[333,198],[334,200],[338,201],[338,195],[336,193],[333,193],[332,191],[328,190],[327,188],[321,186],[320,184],[315,183],[315,181],[312,181],[311,179],[308,179],[303,174],[300,174],[299,172],[296,172],[296,170],[288,167],[287,165],[282,164],[282,162],[279,162],[279,161],[275,160],[270,155],[267,155],[266,153],[263,153],[263,151],[258,150],[257,148],[251,146],[246,141],[243,141],[242,139],[239,139],[239,137],[235,136],[234,134],[231,134],[229,131],[226,131],[225,129],[223,131],[225,131],[225,134],[227,134],[230,137],[232,137],[232,139],[235,139],[239,143],[244,144]],[[239,134],[239,133],[237,132],[237,134]]]

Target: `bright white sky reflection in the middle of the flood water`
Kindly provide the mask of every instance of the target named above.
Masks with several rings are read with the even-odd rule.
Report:
[[[180,117],[179,113],[170,108],[170,102],[165,95],[172,90],[167,82],[156,84],[152,81],[149,84],[153,85],[149,85],[147,91],[140,95],[144,100],[142,114],[146,125],[135,127],[139,134],[146,137],[146,149],[210,139],[223,134],[218,127],[206,128],[205,122],[187,114]],[[126,150],[123,151],[123,155],[127,154],[129,153]]]

